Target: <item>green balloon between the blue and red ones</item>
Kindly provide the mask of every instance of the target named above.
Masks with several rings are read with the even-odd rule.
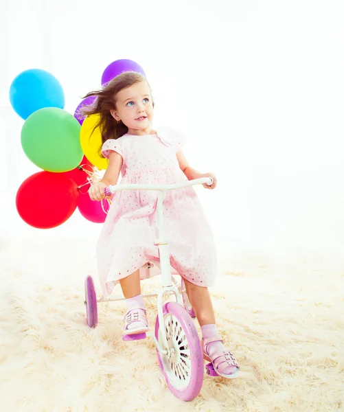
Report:
[[[27,117],[21,129],[25,155],[43,170],[67,172],[80,165],[80,124],[70,113],[45,107]]]

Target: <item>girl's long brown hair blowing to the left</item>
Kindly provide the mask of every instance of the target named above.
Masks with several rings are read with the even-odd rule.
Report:
[[[110,111],[116,106],[116,95],[119,91],[143,81],[147,82],[146,78],[141,74],[136,73],[135,71],[124,71],[124,73],[119,74],[105,84],[102,89],[91,91],[84,96],[84,98],[89,98],[90,96],[95,96],[96,98],[93,104],[83,106],[80,113],[83,117],[94,114],[100,115],[100,120],[98,124],[95,125],[95,128],[100,128],[100,132],[102,133],[102,144],[108,139],[118,139],[128,133],[128,127],[122,120],[117,123]]]

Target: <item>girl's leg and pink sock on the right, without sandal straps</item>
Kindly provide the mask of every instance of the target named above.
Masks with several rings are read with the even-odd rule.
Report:
[[[208,288],[196,286],[191,282],[188,282],[186,279],[184,279],[184,282],[187,297],[190,300],[192,308],[194,308],[198,323],[200,324],[200,329],[202,330],[203,341],[206,339],[216,338],[216,336],[218,336],[218,329],[216,328],[214,308],[211,303]],[[206,346],[211,361],[215,361],[216,358],[221,361],[220,356],[223,356],[224,352],[227,352],[221,341],[214,341]],[[222,370],[222,374],[231,376],[237,370],[238,368],[236,366],[226,366],[225,369]]]

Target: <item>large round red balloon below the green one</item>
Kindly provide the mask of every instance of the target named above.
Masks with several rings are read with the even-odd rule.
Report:
[[[38,172],[16,193],[16,209],[27,225],[51,229],[71,217],[78,203],[76,183],[61,173]]]

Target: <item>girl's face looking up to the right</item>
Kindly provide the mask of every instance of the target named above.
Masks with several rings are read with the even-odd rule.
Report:
[[[148,135],[152,127],[153,104],[148,83],[143,81],[122,89],[115,96],[111,115],[128,127],[130,135]]]

